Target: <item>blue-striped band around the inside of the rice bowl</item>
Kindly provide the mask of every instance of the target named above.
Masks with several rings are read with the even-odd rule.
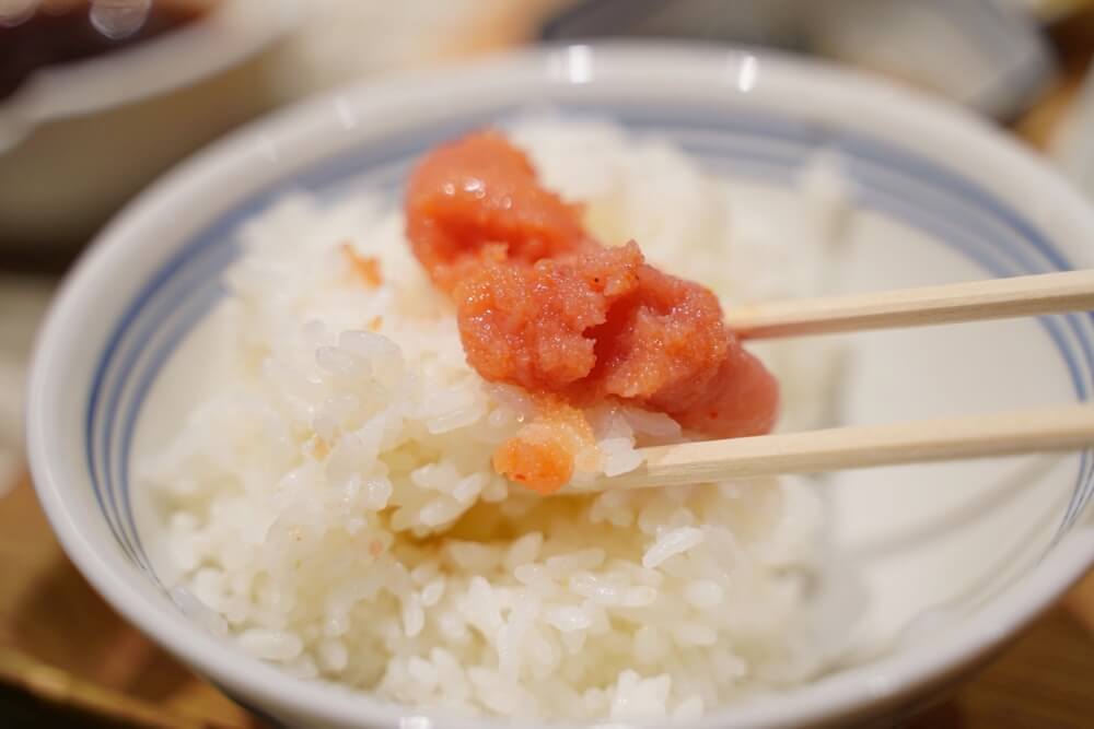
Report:
[[[835,150],[857,184],[858,204],[923,231],[993,275],[1071,268],[1066,257],[989,191],[958,173],[907,150],[828,125],[753,113],[648,106],[574,104],[571,114],[614,118],[639,131],[671,137],[713,168],[775,185],[818,149]],[[361,150],[323,160],[269,186],[209,225],[175,254],[135,297],[98,361],[86,410],[86,458],[95,498],[125,553],[154,577],[133,519],[129,489],[131,445],[141,405],[178,343],[222,294],[219,274],[237,256],[240,224],[292,190],[330,196],[352,181],[360,189],[396,196],[409,161],[431,144],[486,122],[519,114],[501,107],[446,119]],[[1041,326],[1063,358],[1076,399],[1094,383],[1094,319],[1045,317]],[[1094,492],[1084,452],[1060,534]]]

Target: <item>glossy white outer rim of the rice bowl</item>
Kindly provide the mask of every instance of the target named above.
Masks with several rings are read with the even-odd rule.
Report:
[[[73,487],[66,475],[69,466],[59,462],[60,447],[51,434],[57,430],[61,409],[54,397],[55,384],[66,376],[66,342],[78,330],[81,320],[93,316],[94,293],[116,275],[124,266],[125,255],[140,242],[133,239],[142,220],[176,209],[179,191],[193,188],[199,180],[211,183],[246,164],[244,152],[258,136],[299,143],[301,134],[314,134],[309,120],[330,114],[330,104],[339,95],[381,98],[398,96],[407,90],[426,93],[444,89],[453,93],[461,83],[481,82],[490,78],[526,78],[529,83],[543,83],[552,54],[567,48],[539,48],[508,54],[486,61],[463,64],[445,71],[426,71],[393,77],[382,82],[365,82],[338,90],[292,106],[271,117],[254,122],[230,134],[206,151],[188,160],[150,189],[140,195],[96,238],[62,284],[39,332],[32,363],[27,400],[27,450],[39,501],[65,551],[81,573],[126,619],[153,636],[176,656],[212,679],[223,689],[247,702],[277,706],[278,710],[306,716],[318,721],[344,726],[397,727],[412,709],[381,702],[364,694],[353,694],[335,686],[306,682],[260,661],[247,658],[222,644],[181,614],[170,614],[152,604],[124,576],[119,560],[107,555],[103,544],[94,543],[82,526],[88,517],[77,513],[66,498]],[[733,59],[753,58],[782,81],[808,82],[816,93],[836,98],[858,98],[861,102],[884,101],[897,107],[901,115],[926,125],[934,131],[951,134],[962,143],[979,145],[998,155],[1000,162],[1026,175],[1031,189],[1040,195],[1057,196],[1066,212],[1083,227],[1094,232],[1094,210],[1047,165],[1031,152],[1022,150],[1002,133],[971,116],[918,93],[862,77],[854,72],[822,64],[783,58],[771,54],[696,48],[657,44],[606,44],[593,50],[595,62],[607,64],[668,64],[679,71],[688,68],[725,66]],[[183,196],[184,198],[186,196]],[[199,213],[199,215],[202,213]],[[181,245],[181,242],[179,242]],[[79,467],[83,469],[84,466]],[[1086,519],[1089,521],[1089,519]],[[817,683],[795,689],[784,695],[759,698],[738,707],[711,713],[694,727],[717,727],[732,724],[742,729],[800,727],[813,721],[848,716],[873,705],[899,703],[918,689],[943,680],[977,658],[998,647],[1006,637],[1029,622],[1086,569],[1094,564],[1094,527],[1085,521],[1061,540],[1045,558],[1016,585],[997,596],[980,613],[975,624],[952,639],[932,644],[930,649],[913,647],[898,656],[876,663],[850,669]],[[277,712],[275,712],[277,713]],[[513,726],[504,722],[446,719],[433,716],[433,724],[422,726],[455,729],[481,726]],[[601,726],[620,726],[604,724]],[[527,726],[521,722],[522,726]],[[568,726],[551,724],[549,726]]]

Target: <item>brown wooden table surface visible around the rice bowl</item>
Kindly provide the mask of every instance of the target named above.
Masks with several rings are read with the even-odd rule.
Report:
[[[1015,127],[1037,146],[1094,52],[1094,17],[1057,40],[1067,72]],[[24,480],[0,496],[0,726],[44,726],[45,716],[49,726],[259,729],[98,598],[62,554]],[[1094,728],[1094,573],[915,727]]]

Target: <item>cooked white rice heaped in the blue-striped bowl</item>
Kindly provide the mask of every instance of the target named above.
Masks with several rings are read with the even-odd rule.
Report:
[[[728,305],[826,285],[846,216],[828,161],[803,177],[791,246],[735,225],[725,183],[666,143],[552,118],[510,133],[548,186],[589,203],[602,239],[637,238]],[[298,196],[242,231],[213,391],[138,463],[178,604],[293,674],[427,709],[695,718],[815,675],[811,485],[550,498],[510,485],[490,459],[533,408],[468,367],[403,226],[384,200]],[[380,261],[382,285],[362,285],[346,245]],[[822,416],[836,362],[798,346],[763,353],[795,426]],[[591,470],[630,470],[636,444],[679,437],[664,415],[589,416]]]

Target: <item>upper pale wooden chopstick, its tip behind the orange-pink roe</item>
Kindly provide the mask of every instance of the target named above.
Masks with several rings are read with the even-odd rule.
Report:
[[[730,309],[741,339],[895,329],[1094,309],[1094,271],[1063,271]]]

